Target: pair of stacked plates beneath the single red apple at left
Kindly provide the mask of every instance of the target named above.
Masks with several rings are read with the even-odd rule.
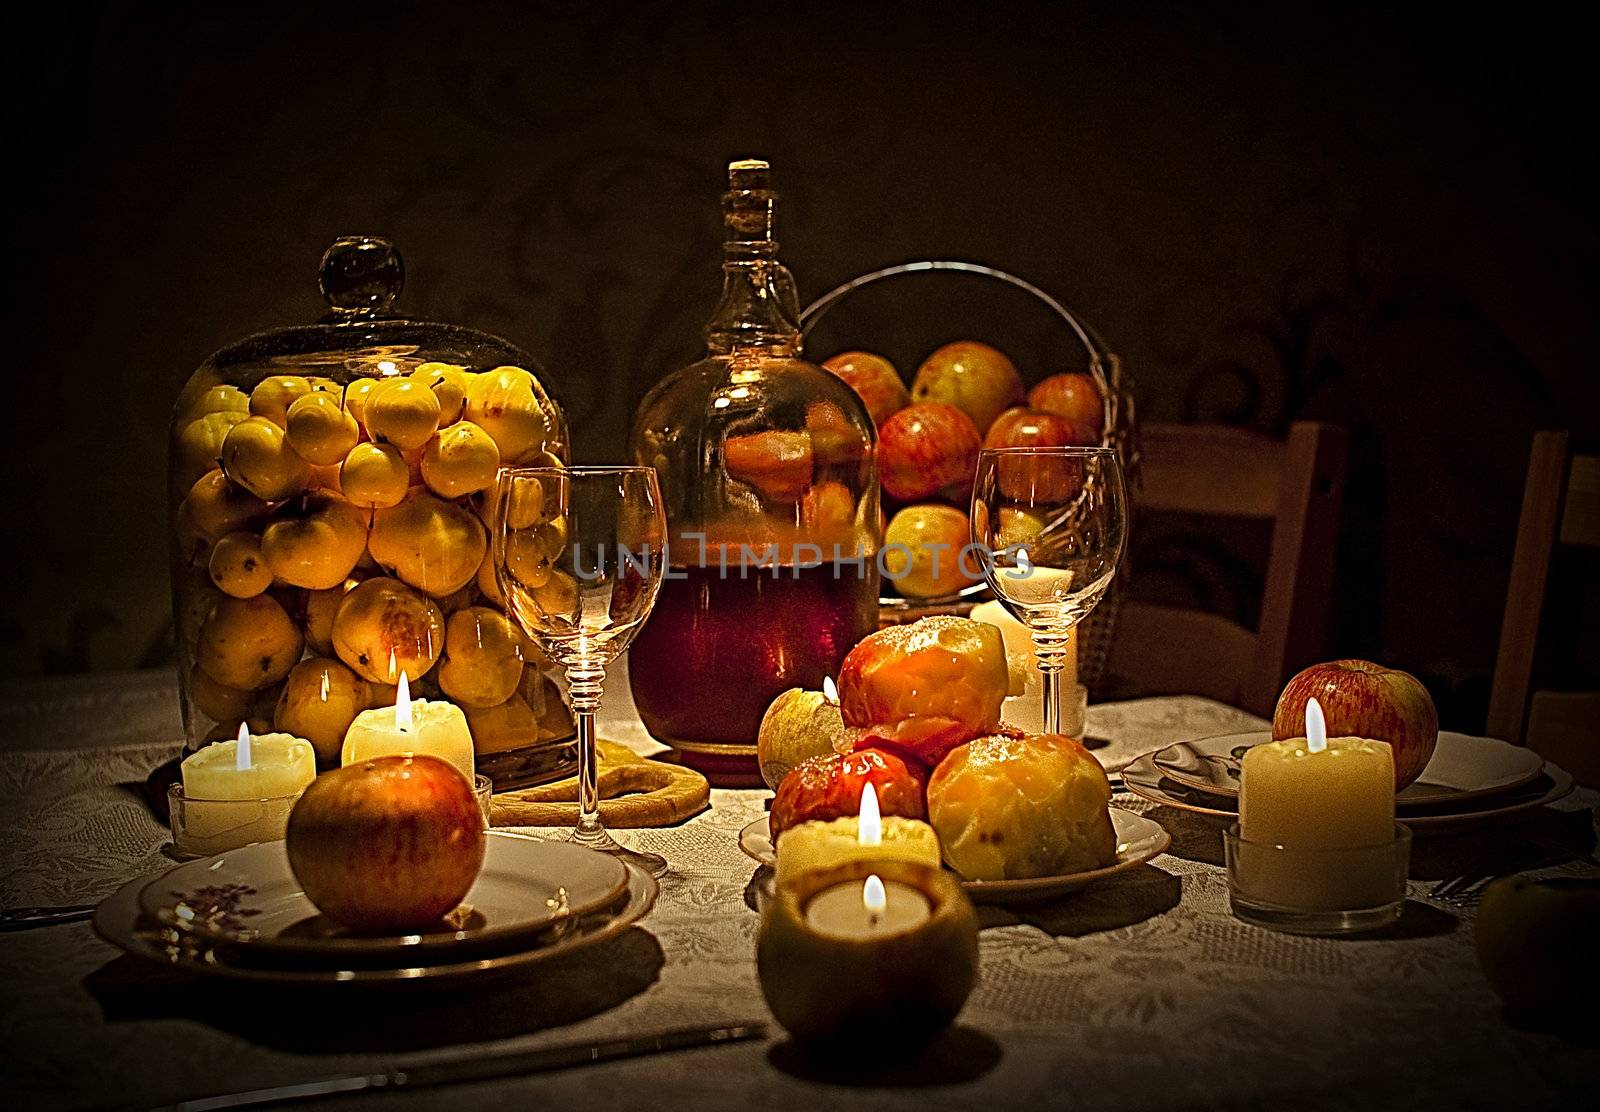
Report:
[[[566,842],[493,830],[466,901],[414,934],[352,934],[320,915],[282,842],[221,853],[136,880],[94,930],[136,957],[206,976],[282,984],[480,979],[592,946],[637,923],[656,882]]]

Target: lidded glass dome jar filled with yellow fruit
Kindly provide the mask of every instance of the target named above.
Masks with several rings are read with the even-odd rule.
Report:
[[[502,464],[568,458],[512,344],[392,314],[400,253],[323,254],[328,314],[211,355],[173,413],[168,494],[186,746],[256,731],[339,763],[360,710],[459,706],[496,787],[570,774],[573,720],[488,560]]]

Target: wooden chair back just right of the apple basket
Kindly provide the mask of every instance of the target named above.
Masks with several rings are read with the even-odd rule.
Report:
[[[1226,426],[1144,426],[1138,512],[1266,518],[1272,542],[1256,630],[1128,598],[1107,664],[1114,683],[1270,717],[1283,682],[1326,651],[1347,454],[1344,429],[1310,421],[1288,442]]]

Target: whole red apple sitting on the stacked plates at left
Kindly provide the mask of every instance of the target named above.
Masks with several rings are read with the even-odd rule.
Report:
[[[454,765],[379,757],[323,773],[290,811],[290,869],[328,918],[376,934],[454,910],[483,867],[483,811]]]

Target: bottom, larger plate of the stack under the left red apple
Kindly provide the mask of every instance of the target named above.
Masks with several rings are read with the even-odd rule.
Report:
[[[139,912],[139,891],[150,882],[134,880],[112,893],[94,912],[94,933],[112,946],[160,965],[187,970],[202,976],[229,981],[254,981],[266,984],[349,984],[366,987],[397,987],[426,984],[432,987],[454,986],[464,981],[474,984],[506,976],[531,965],[571,954],[621,934],[642,920],[656,904],[661,891],[656,880],[632,866],[624,866],[627,877],[624,894],[610,909],[592,912],[584,918],[566,920],[565,930],[557,926],[557,938],[541,934],[526,949],[514,949],[491,957],[466,958],[438,965],[410,968],[341,968],[338,965],[246,965],[229,947],[213,947],[203,939],[162,926]]]

